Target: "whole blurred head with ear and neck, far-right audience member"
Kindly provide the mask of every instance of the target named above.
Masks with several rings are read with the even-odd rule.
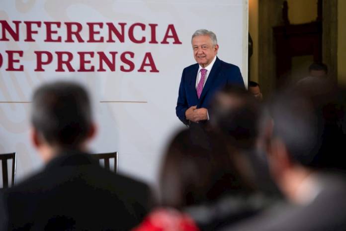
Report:
[[[281,92],[269,107],[273,133],[268,148],[272,176],[287,195],[316,171],[345,171],[346,90],[326,78]],[[296,184],[297,185],[297,184]]]

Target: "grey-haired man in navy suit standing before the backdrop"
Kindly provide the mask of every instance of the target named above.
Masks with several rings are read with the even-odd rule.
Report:
[[[208,107],[215,92],[232,84],[244,86],[239,67],[216,57],[219,45],[212,31],[199,29],[192,35],[196,64],[182,71],[175,113],[184,124],[209,119]]]

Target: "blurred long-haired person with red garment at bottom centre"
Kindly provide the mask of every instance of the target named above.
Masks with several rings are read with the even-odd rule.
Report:
[[[177,133],[160,174],[162,208],[133,231],[216,231],[257,213],[266,202],[252,194],[237,156],[201,127]]]

